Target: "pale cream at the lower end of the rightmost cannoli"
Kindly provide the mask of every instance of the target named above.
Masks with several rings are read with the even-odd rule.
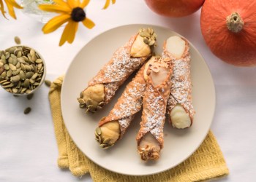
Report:
[[[189,114],[185,111],[181,104],[177,104],[174,106],[173,110],[170,111],[170,120],[173,124],[173,127],[179,129],[190,127],[191,125]]]

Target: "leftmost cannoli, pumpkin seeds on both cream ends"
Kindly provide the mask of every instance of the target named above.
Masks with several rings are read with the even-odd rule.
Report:
[[[128,76],[150,58],[156,37],[151,28],[140,29],[127,44],[119,47],[110,61],[91,79],[89,86],[80,93],[80,108],[86,108],[86,112],[96,112],[108,104]]]

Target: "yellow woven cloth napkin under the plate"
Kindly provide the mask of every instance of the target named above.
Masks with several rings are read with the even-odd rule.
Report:
[[[69,136],[61,115],[61,85],[63,76],[50,86],[49,98],[53,116],[56,140],[59,149],[58,165],[69,167],[75,176],[90,173],[93,181],[205,181],[228,175],[229,171],[212,132],[208,132],[205,141],[189,159],[180,165],[162,173],[146,176],[121,175],[105,170],[94,164],[79,149]]]

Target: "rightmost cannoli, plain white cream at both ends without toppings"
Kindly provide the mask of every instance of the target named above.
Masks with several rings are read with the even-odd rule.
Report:
[[[192,106],[192,84],[190,74],[189,43],[179,36],[165,41],[163,58],[170,58],[173,64],[172,87],[167,102],[169,121],[176,128],[192,125],[195,114]]]

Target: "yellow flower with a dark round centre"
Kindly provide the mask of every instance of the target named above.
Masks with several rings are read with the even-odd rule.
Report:
[[[95,24],[86,16],[86,12],[83,10],[89,4],[89,0],[83,0],[83,2],[80,2],[80,0],[53,1],[55,2],[54,4],[39,5],[39,8],[44,11],[60,13],[60,15],[49,20],[43,26],[42,31],[44,33],[56,31],[62,24],[67,22],[59,41],[59,46],[63,45],[66,41],[69,44],[74,41],[80,21],[89,29],[94,27]]]

